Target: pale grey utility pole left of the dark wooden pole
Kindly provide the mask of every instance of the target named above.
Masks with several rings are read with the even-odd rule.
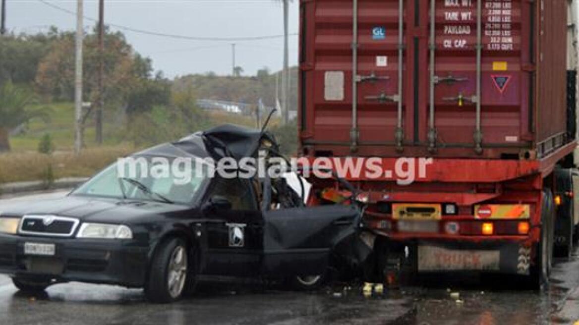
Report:
[[[84,143],[83,117],[82,117],[82,44],[84,38],[83,29],[83,0],[76,0],[76,68],[75,68],[75,142],[74,150],[80,154]]]

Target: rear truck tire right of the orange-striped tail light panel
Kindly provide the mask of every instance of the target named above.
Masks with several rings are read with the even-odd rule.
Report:
[[[541,204],[541,237],[536,246],[534,265],[531,267],[531,283],[534,289],[541,289],[549,284],[553,261],[554,213],[553,193],[543,190]]]

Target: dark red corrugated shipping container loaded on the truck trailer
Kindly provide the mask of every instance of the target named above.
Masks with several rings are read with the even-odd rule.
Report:
[[[566,33],[566,0],[302,0],[303,154],[545,157]]]

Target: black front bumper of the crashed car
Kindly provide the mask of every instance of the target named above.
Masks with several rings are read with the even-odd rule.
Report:
[[[54,256],[24,254],[24,243],[54,243]],[[56,239],[0,234],[0,274],[42,276],[57,282],[78,281],[142,287],[148,265],[146,246],[133,241]]]

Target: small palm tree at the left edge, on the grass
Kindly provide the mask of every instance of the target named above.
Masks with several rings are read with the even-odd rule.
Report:
[[[34,96],[24,88],[5,82],[0,88],[0,152],[10,151],[10,130],[34,117],[47,117],[46,110],[32,109]]]

